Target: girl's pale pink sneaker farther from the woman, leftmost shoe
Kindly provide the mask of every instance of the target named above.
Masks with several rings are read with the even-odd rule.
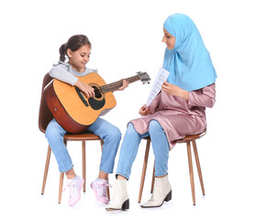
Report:
[[[74,205],[80,200],[83,182],[84,181],[81,177],[76,176],[73,179],[69,179],[66,186],[64,187],[63,191],[65,191],[67,187],[70,189],[70,206]]]

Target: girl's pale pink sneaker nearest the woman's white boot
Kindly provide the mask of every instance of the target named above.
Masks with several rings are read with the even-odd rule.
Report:
[[[108,181],[98,178],[91,183],[91,187],[95,192],[96,199],[101,203],[108,203],[108,198],[106,195],[108,186],[112,187],[110,184],[108,184]]]

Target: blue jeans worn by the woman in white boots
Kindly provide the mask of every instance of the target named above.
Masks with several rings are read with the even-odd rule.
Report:
[[[149,132],[139,135],[131,123],[128,124],[126,135],[117,165],[117,175],[129,179],[132,163],[136,158],[140,140],[150,136],[153,153],[155,156],[155,176],[163,176],[168,172],[169,142],[161,125],[156,120],[150,121]]]

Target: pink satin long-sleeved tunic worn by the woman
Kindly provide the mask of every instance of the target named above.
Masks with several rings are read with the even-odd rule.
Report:
[[[176,140],[200,134],[206,129],[206,107],[215,104],[215,83],[189,92],[188,101],[161,91],[150,104],[150,115],[131,120],[139,134],[149,131],[150,120],[157,120],[169,141],[170,150]]]

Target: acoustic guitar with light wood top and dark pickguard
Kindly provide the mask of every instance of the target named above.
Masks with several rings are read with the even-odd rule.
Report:
[[[51,114],[59,125],[72,134],[83,132],[99,115],[105,115],[114,108],[117,102],[112,92],[123,85],[122,80],[106,84],[95,72],[77,78],[95,89],[94,97],[87,98],[77,87],[57,79],[49,82],[43,91]],[[129,83],[139,80],[149,83],[150,76],[147,72],[139,71],[126,80]]]

